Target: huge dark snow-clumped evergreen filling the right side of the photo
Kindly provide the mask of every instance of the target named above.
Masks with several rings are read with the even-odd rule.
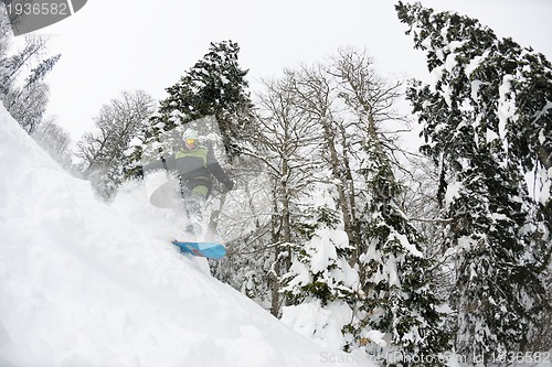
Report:
[[[427,141],[422,151],[442,171],[446,241],[457,256],[456,348],[526,350],[551,252],[550,63],[474,19],[420,3],[396,10],[436,79],[413,83],[407,97]],[[530,172],[542,180],[533,197]]]

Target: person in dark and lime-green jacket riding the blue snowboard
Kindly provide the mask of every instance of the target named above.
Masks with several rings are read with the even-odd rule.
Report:
[[[201,218],[202,207],[212,191],[213,175],[226,190],[234,187],[234,182],[221,168],[212,150],[200,144],[199,134],[192,129],[183,133],[180,150],[144,166],[144,172],[156,169],[178,173],[184,209],[189,216],[195,218]]]

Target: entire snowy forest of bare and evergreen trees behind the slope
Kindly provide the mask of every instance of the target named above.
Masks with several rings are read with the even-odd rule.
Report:
[[[31,36],[10,51],[2,17],[0,97],[106,203],[167,137],[199,126],[235,181],[209,201],[227,239],[213,277],[321,344],[484,365],[549,352],[552,65],[475,19],[395,9],[434,82],[381,75],[378,55],[343,47],[253,93],[238,43],[217,41],[166,99],[107,101],[72,150],[45,115],[60,55]]]

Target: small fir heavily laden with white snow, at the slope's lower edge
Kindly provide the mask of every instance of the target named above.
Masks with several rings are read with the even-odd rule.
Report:
[[[350,342],[343,330],[354,322],[359,277],[348,262],[353,248],[336,207],[336,187],[317,186],[312,223],[305,227],[311,229],[309,240],[294,247],[291,267],[282,278],[282,292],[290,303],[282,320],[337,350]]]

